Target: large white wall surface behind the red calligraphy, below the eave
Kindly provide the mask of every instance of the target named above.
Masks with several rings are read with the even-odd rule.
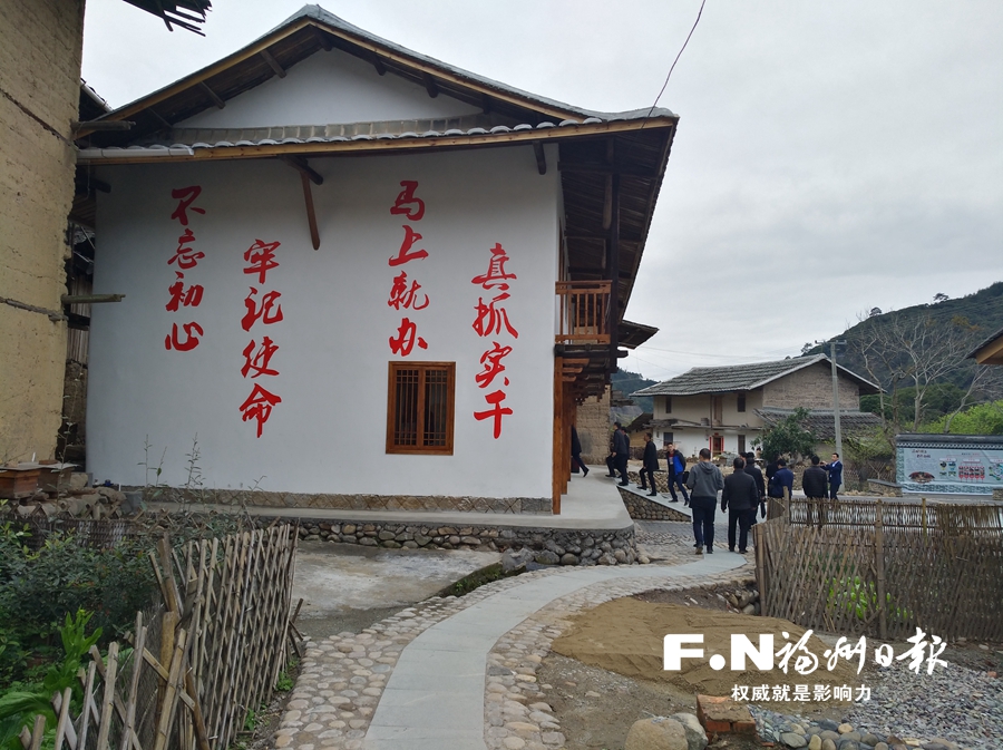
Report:
[[[549,150],[549,147],[548,147]],[[549,150],[551,163],[556,154]],[[126,299],[96,305],[91,320],[88,469],[127,485],[146,479],[164,456],[162,480],[185,481],[185,455],[197,435],[198,465],[210,487],[259,483],[261,489],[381,495],[549,497],[553,415],[552,324],[559,175],[536,171],[529,147],[368,158],[312,159],[324,175],[313,186],[321,249],[310,244],[296,172],[275,160],[119,166],[101,171],[111,185],[98,205],[95,292]],[[392,269],[403,216],[389,213],[400,182],[416,179],[426,203],[415,249],[429,256]],[[173,188],[201,185],[189,212],[194,247],[205,253],[186,272],[204,286],[198,308],[167,312],[181,226],[171,220]],[[241,328],[244,299],[256,277],[243,273],[255,238],[279,241],[280,267],[264,290],[281,292],[282,322]],[[501,243],[517,274],[506,302],[517,340],[481,339],[471,328],[478,295],[471,279],[487,271]],[[430,304],[408,311],[428,350],[409,360],[455,361],[456,438],[452,456],[386,452],[388,339],[401,312],[388,306],[399,270],[417,280]],[[187,314],[193,313],[193,314]],[[173,322],[196,320],[202,343],[167,351]],[[252,390],[241,376],[242,351],[267,334],[279,347],[280,374],[263,384],[282,398],[255,437],[238,410]],[[475,382],[490,341],[510,344],[499,439]],[[495,382],[495,386],[498,381]]]

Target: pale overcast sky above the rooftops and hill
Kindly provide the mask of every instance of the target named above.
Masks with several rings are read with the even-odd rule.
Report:
[[[205,38],[88,0],[84,78],[113,107],[277,26],[213,0]],[[325,0],[451,65],[569,104],[651,106],[699,0]],[[782,359],[858,313],[1003,280],[1003,2],[708,0],[660,106],[680,115],[624,362]]]

